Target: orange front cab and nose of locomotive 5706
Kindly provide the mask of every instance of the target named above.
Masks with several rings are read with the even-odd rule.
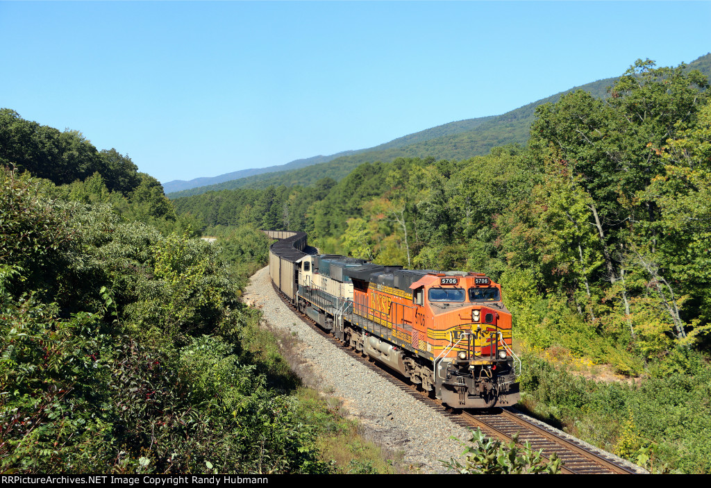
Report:
[[[416,313],[434,329],[435,394],[455,408],[518,402],[511,316],[501,287],[480,273],[437,273],[412,283]]]

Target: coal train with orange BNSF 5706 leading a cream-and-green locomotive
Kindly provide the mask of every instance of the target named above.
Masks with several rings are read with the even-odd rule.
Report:
[[[454,408],[520,398],[511,313],[482,273],[410,270],[310,254],[303,232],[269,232],[274,286],[338,340]]]

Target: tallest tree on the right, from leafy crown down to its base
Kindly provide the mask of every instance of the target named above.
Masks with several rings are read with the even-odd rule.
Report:
[[[662,207],[669,204],[649,190],[663,190],[655,183],[668,171],[661,148],[696,126],[707,86],[705,77],[685,72],[684,65],[656,68],[650,60],[638,60],[609,89],[606,101],[584,92],[568,94],[555,105],[539,107],[531,128],[531,147],[538,158],[543,160],[548,151],[557,154],[561,170],[567,168],[575,178],[573,185],[589,195],[584,222],[597,230],[604,256],[606,273],[599,278],[616,288],[632,335],[634,307],[627,271],[646,276],[651,286],[646,289],[654,292],[648,298],[665,310],[675,337],[685,335],[680,313],[685,297],[678,293],[678,281],[670,279],[675,263],[663,257],[667,251],[675,254],[672,239],[666,237],[669,229],[665,232],[661,222],[669,216]],[[670,190],[660,193],[671,195]]]

